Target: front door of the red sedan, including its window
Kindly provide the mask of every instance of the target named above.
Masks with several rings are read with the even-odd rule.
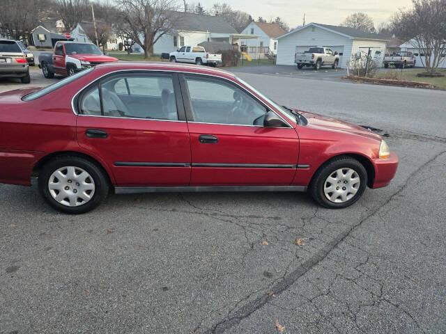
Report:
[[[267,108],[224,79],[185,74],[191,186],[289,185],[298,164],[293,127],[263,127]]]

